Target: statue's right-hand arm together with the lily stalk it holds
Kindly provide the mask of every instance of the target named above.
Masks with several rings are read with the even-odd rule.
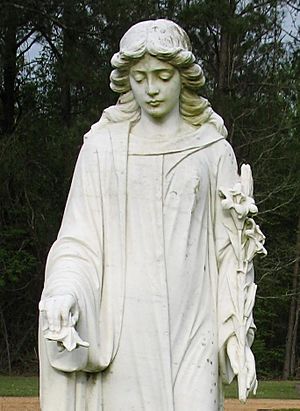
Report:
[[[256,292],[252,260],[256,253],[265,252],[264,236],[251,218],[257,208],[250,167],[243,166],[239,176],[231,146],[222,144],[215,194],[220,373],[227,383],[237,375],[239,398],[245,401],[257,385],[251,351]]]

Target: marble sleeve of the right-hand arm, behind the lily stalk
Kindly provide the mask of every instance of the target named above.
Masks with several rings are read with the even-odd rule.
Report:
[[[222,207],[221,190],[232,189],[239,183],[237,164],[231,146],[224,142],[224,152],[220,157],[217,174],[217,192],[215,209],[215,238],[218,262],[218,331],[219,331],[219,358],[220,373],[224,382],[231,382],[234,373],[231,368],[226,347],[228,339],[237,335],[239,324],[237,313],[240,309],[238,302],[243,296],[238,283],[239,250],[241,238],[230,209]],[[254,338],[255,325],[253,322],[252,308],[255,289],[254,270],[251,261],[246,265],[245,272],[245,340],[250,347]],[[244,292],[243,292],[244,293]],[[247,301],[248,300],[248,301]],[[246,312],[247,311],[247,312]]]

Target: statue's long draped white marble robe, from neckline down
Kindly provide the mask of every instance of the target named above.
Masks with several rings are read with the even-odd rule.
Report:
[[[237,261],[219,188],[238,180],[234,153],[212,125],[171,140],[120,122],[86,137],[42,299],[72,294],[90,346],[68,352],[40,332],[42,410],[221,410]]]

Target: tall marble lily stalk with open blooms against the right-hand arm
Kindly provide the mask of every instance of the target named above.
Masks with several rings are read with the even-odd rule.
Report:
[[[247,329],[251,315],[256,284],[247,282],[249,263],[256,254],[267,254],[264,248],[265,236],[252,216],[257,213],[257,207],[253,199],[253,179],[249,165],[241,167],[240,181],[233,188],[221,188],[219,194],[224,210],[228,210],[232,217],[235,235],[229,237],[237,258],[236,288],[237,298],[233,301],[234,328],[238,342],[239,370],[237,374],[239,400],[245,402],[249,394],[247,389]],[[257,381],[254,391],[256,391]]]

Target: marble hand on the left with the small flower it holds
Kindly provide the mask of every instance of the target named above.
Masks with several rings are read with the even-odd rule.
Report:
[[[68,351],[78,345],[88,347],[78,335],[75,324],[79,318],[79,307],[72,295],[57,295],[41,300],[43,335],[48,340],[60,342]]]

